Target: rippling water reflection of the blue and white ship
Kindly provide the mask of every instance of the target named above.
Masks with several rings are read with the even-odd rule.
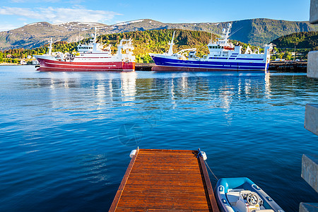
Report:
[[[220,109],[225,119],[231,121],[231,107],[240,107],[236,102],[245,100],[246,102],[254,101],[259,103],[264,95],[269,95],[269,76],[263,73],[247,74],[202,74],[201,76],[192,73],[177,75],[171,73],[171,78],[155,78],[153,85],[160,88],[162,93],[152,95],[153,100],[160,99],[163,95],[170,97],[172,109],[175,107],[187,106],[189,109],[198,107],[201,102],[208,102],[208,110]],[[137,84],[139,81],[137,80]],[[140,87],[140,86],[139,86]],[[167,93],[167,90],[170,92]],[[138,91],[137,91],[138,92]],[[137,97],[138,98],[138,97]],[[192,104],[184,105],[184,99],[191,98]],[[206,105],[206,103],[202,104]],[[244,105],[241,105],[244,107]]]

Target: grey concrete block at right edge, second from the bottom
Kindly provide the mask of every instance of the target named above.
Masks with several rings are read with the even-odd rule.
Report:
[[[302,155],[302,178],[318,192],[318,156]],[[318,208],[317,208],[318,209]]]

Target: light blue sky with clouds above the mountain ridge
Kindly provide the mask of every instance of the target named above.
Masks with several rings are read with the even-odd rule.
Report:
[[[0,31],[39,21],[107,25],[150,18],[163,23],[223,22],[250,18],[309,20],[310,0],[0,0]]]

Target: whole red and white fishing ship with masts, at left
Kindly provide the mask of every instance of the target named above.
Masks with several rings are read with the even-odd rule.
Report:
[[[79,44],[77,54],[54,52],[52,41],[49,54],[35,55],[40,63],[37,71],[134,71],[135,57],[131,39],[120,41],[116,54],[112,54],[111,45],[103,48],[96,42],[96,29],[93,40],[88,44]]]

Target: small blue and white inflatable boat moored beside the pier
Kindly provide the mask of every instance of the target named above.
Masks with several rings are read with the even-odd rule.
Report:
[[[283,212],[269,195],[247,177],[219,179],[216,201],[223,212]]]

